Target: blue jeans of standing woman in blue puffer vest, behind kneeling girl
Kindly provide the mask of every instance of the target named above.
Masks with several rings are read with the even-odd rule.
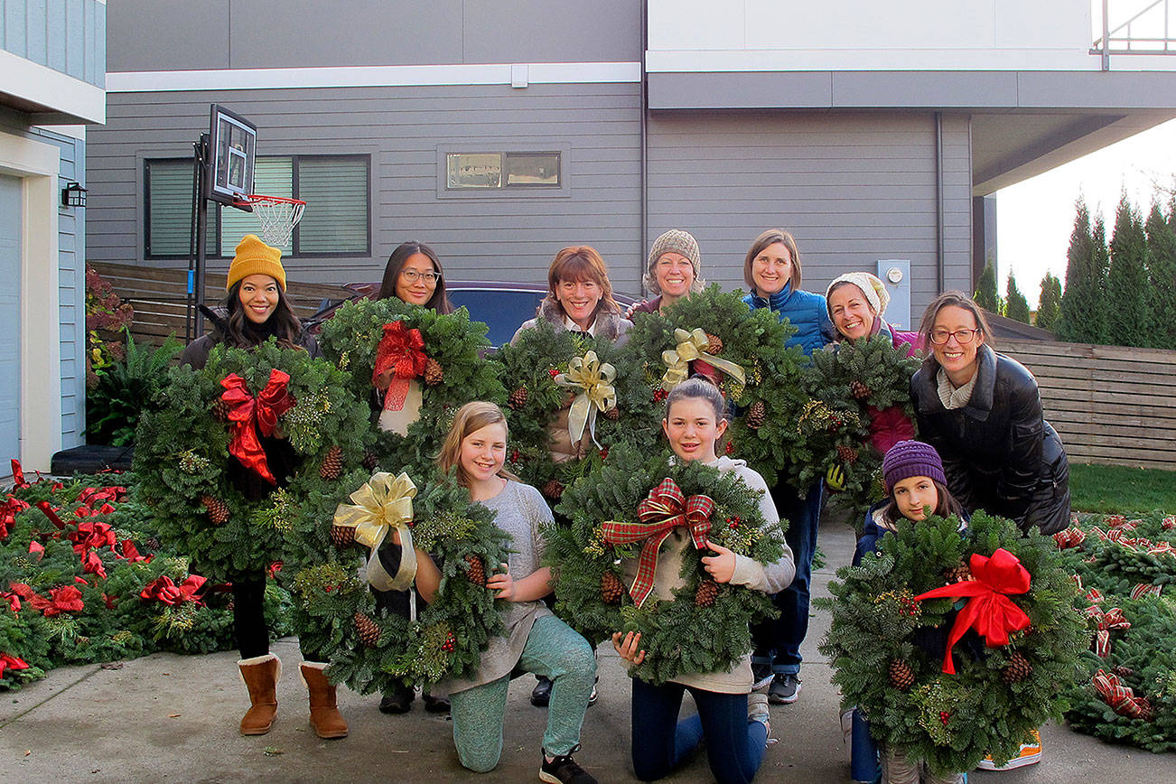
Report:
[[[771,488],[771,500],[780,517],[787,520],[784,538],[796,559],[796,577],[791,585],[771,597],[780,617],[751,626],[755,651],[754,664],[771,664],[774,672],[801,671],[801,643],[808,634],[809,583],[813,577],[813,554],[816,552],[816,530],[824,507],[824,482],[818,481],[803,496],[781,481]]]

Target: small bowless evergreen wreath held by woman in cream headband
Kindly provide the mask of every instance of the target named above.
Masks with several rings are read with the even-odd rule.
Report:
[[[844,487],[838,500],[860,520],[882,495],[882,455],[869,440],[870,414],[897,406],[915,422],[910,377],[918,364],[918,359],[907,356],[881,334],[842,340],[814,351],[809,395],[816,404],[842,413],[848,427],[817,428],[808,434],[811,458],[794,464],[794,483],[806,487],[830,468],[840,468]]]

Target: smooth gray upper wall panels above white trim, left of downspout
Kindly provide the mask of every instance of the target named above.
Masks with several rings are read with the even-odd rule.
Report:
[[[160,0],[111,5],[111,72],[635,62],[640,0]],[[151,31],[151,34],[143,34]]]

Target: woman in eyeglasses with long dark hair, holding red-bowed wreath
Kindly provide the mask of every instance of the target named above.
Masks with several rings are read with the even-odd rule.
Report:
[[[423,242],[403,242],[388,256],[388,264],[383,269],[383,282],[380,284],[377,300],[395,297],[408,304],[419,304],[423,308],[432,308],[437,313],[453,313],[453,303],[445,293],[445,277],[441,274],[441,261],[433,248]],[[383,416],[383,389],[373,388],[372,408],[379,411],[377,416]],[[420,390],[416,390],[419,397]],[[410,390],[409,396],[413,396]],[[419,400],[416,401],[419,408]],[[408,407],[406,404],[406,407]],[[386,429],[397,429],[389,427],[383,421],[381,427]],[[406,425],[407,427],[407,425]],[[375,594],[376,608],[399,615],[402,618],[409,617],[409,602],[413,601],[410,591],[380,591],[372,589]],[[425,609],[425,603],[416,597],[417,610]],[[449,701],[445,697],[426,690],[422,695],[425,710],[433,713],[446,713],[449,711]],[[400,684],[392,693],[383,695],[380,699],[380,712],[382,713],[407,713],[413,709],[413,699],[416,693],[409,686]]]

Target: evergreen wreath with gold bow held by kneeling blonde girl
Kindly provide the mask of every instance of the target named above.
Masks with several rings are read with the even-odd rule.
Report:
[[[353,471],[342,485],[354,490],[369,478]],[[282,569],[289,575],[299,638],[330,662],[332,682],[361,693],[389,693],[399,684],[427,688],[472,676],[487,641],[502,631],[486,579],[506,562],[509,536],[494,525],[494,512],[470,502],[469,491],[452,476],[434,473],[417,488],[407,524],[414,545],[441,570],[441,584],[434,601],[409,621],[376,611],[372,591],[358,576],[368,550],[354,541],[354,529],[333,524],[339,503],[347,497],[307,500],[292,552],[299,565]]]

